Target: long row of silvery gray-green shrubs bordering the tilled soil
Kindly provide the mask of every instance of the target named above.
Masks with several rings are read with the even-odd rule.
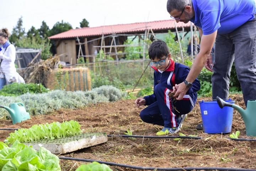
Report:
[[[9,106],[10,103],[21,102],[31,115],[46,114],[60,108],[81,108],[91,103],[112,102],[120,100],[123,96],[121,90],[113,86],[101,86],[91,91],[64,91],[54,90],[48,93],[21,96],[0,96],[0,104]],[[0,118],[9,116],[9,113],[0,108]]]

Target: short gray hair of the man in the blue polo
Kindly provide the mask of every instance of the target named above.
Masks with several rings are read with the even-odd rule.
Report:
[[[167,11],[171,12],[172,10],[182,11],[185,6],[190,4],[192,6],[191,0],[168,0],[167,1]]]

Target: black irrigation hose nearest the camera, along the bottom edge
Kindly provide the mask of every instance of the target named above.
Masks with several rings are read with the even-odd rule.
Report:
[[[225,168],[225,167],[174,167],[174,168],[163,168],[163,167],[143,167],[143,166],[133,166],[126,164],[118,164],[115,162],[109,161],[101,161],[101,160],[92,160],[92,159],[81,159],[81,158],[73,158],[73,157],[64,157],[59,156],[59,159],[62,160],[74,160],[74,161],[84,161],[84,162],[93,162],[97,161],[101,164],[106,164],[110,166],[119,166],[126,167],[131,169],[139,169],[139,170],[166,170],[166,171],[191,171],[191,170],[221,170],[221,171],[256,171],[255,169],[242,169],[242,168]]]

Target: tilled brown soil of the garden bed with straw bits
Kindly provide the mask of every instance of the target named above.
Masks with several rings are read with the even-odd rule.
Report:
[[[231,97],[241,107],[241,95]],[[205,98],[204,98],[205,99]],[[202,100],[202,99],[199,99]],[[29,128],[34,124],[53,121],[78,121],[86,132],[106,132],[123,135],[127,129],[133,135],[154,136],[161,129],[158,125],[142,122],[134,100],[99,103],[83,109],[62,109],[52,114],[32,116],[30,120],[12,125],[10,120],[0,120],[0,128]],[[81,149],[63,156],[112,161],[120,164],[144,167],[234,167],[256,169],[256,142],[228,140],[229,134],[207,134],[196,130],[202,122],[199,104],[188,114],[180,133],[197,135],[203,139],[148,139],[108,137],[107,143]],[[239,138],[246,137],[245,125],[240,114],[234,110],[232,132],[240,131]],[[3,141],[12,131],[0,130]],[[175,135],[178,135],[175,134]],[[60,160],[62,170],[75,170],[81,162]],[[134,170],[111,166],[113,170]]]

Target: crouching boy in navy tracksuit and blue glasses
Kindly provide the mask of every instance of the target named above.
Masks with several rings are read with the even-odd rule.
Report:
[[[175,63],[164,41],[152,42],[148,50],[151,59],[151,68],[154,71],[154,93],[143,98],[137,98],[137,106],[149,105],[140,112],[140,118],[147,123],[162,125],[161,131],[156,135],[177,133],[182,123],[187,118],[197,100],[197,91],[200,89],[200,82],[196,79],[193,83],[187,82],[190,68],[186,65]],[[175,84],[184,82],[188,91],[182,100],[172,97]],[[174,87],[175,88],[175,87]]]

